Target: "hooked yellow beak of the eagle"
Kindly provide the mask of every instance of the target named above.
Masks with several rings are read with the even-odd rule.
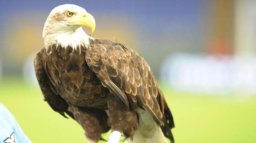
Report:
[[[76,21],[79,25],[90,27],[92,29],[92,33],[94,32],[96,24],[93,16],[90,13],[83,13]]]

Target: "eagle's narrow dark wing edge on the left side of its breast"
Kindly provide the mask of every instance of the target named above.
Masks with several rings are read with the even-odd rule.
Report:
[[[35,75],[40,85],[41,91],[44,95],[44,101],[51,106],[51,108],[67,118],[65,113],[71,118],[74,118],[73,114],[68,111],[68,104],[66,101],[51,88],[48,76],[44,71],[44,66],[41,61],[40,53],[38,53],[34,60]]]

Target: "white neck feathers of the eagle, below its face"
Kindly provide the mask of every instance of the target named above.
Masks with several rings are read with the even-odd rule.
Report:
[[[44,27],[43,38],[46,50],[50,46],[56,45],[62,48],[72,47],[73,51],[77,48],[81,50],[81,47],[87,48],[90,44],[89,40],[93,39],[84,32],[82,27],[62,30]]]

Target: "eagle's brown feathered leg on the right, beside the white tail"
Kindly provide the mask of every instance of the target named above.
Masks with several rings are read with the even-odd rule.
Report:
[[[121,132],[126,138],[132,138],[138,126],[136,111],[128,109],[115,98],[108,100],[108,109],[108,124],[111,126],[111,129]]]

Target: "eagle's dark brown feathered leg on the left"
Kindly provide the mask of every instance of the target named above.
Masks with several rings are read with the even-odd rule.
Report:
[[[106,133],[110,129],[107,124],[108,116],[105,110],[70,105],[69,111],[74,114],[76,122],[83,127],[84,135],[89,143],[97,143],[102,139],[101,134]]]

